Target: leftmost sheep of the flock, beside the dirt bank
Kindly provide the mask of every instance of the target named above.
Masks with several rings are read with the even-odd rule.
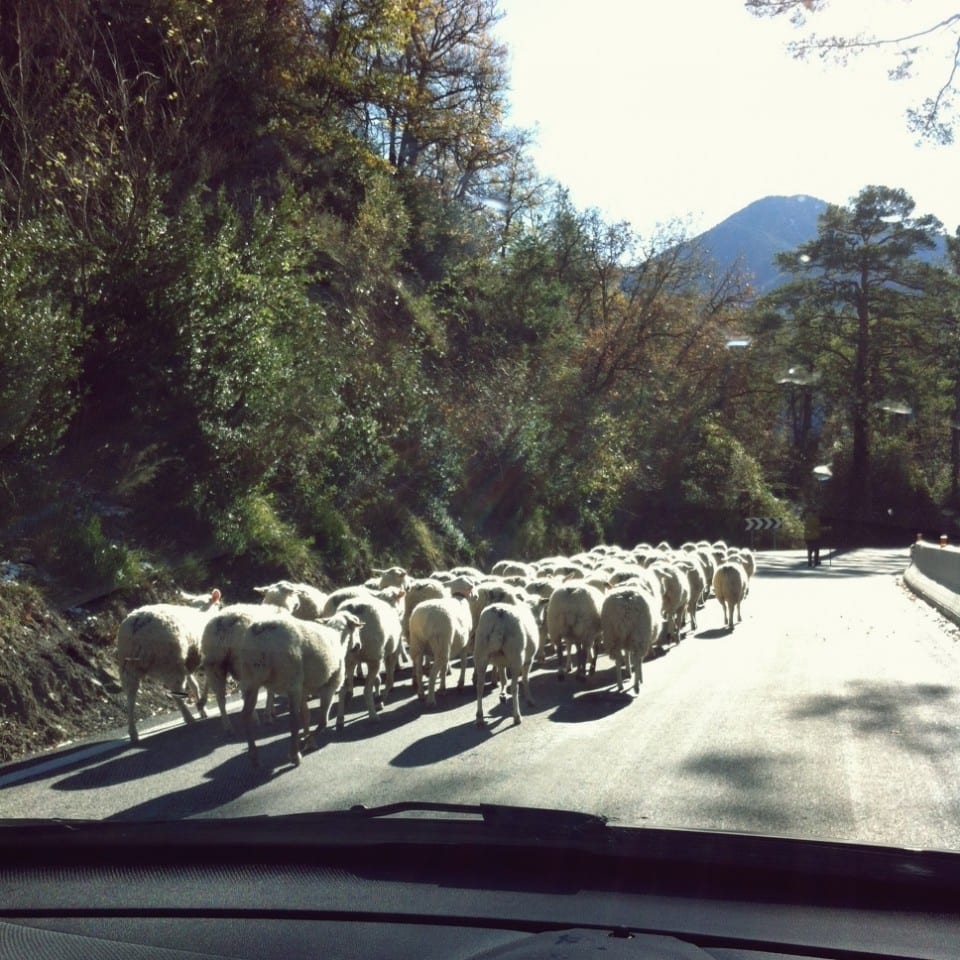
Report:
[[[139,743],[137,693],[146,676],[161,681],[176,698],[187,723],[194,720],[186,697],[192,693],[201,717],[206,716],[193,674],[200,666],[200,635],[207,618],[219,609],[219,590],[191,595],[181,592],[182,604],[154,603],[131,611],[117,628],[120,684],[127,696],[130,742]]]

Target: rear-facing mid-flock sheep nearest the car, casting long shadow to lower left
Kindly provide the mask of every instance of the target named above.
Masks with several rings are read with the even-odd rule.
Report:
[[[520,718],[519,686],[527,704],[536,706],[530,695],[530,665],[537,652],[540,631],[533,610],[525,600],[519,603],[492,603],[484,607],[477,621],[473,647],[474,683],[477,688],[477,726],[483,727],[483,688],[487,663],[506,669],[510,676],[513,724]],[[500,699],[504,699],[501,684]]]

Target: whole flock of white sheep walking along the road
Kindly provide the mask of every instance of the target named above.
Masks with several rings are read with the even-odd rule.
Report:
[[[616,666],[617,689],[623,690],[626,674],[639,693],[644,658],[657,644],[678,642],[688,621],[696,629],[697,610],[711,589],[723,608],[724,626],[733,630],[754,570],[749,550],[700,541],[679,549],[667,543],[633,550],[597,546],[534,563],[502,560],[489,573],[456,567],[423,579],[392,567],[374,571],[365,584],[329,594],[281,580],[255,588],[260,603],[223,606],[219,590],[182,594],[179,604],[139,607],[117,631],[130,739],[138,740],[136,698],[146,676],[171,691],[187,721],[194,719],[188,696],[203,717],[212,690],[227,730],[227,682],[234,678],[254,765],[261,689],[268,694],[268,713],[274,694],[287,697],[294,765],[302,750],[316,745],[334,696],[337,728],[343,726],[355,677],[363,679],[367,713],[376,721],[401,664],[412,665],[414,691],[434,706],[437,681],[443,692],[451,661],[459,660],[462,687],[472,657],[481,727],[488,667],[494,668],[501,699],[511,698],[513,722],[519,724],[520,688],[533,705],[530,669],[545,662],[548,647],[561,680],[574,668],[580,678],[588,665],[593,673],[604,653]],[[311,733],[314,697],[320,700],[319,721]]]

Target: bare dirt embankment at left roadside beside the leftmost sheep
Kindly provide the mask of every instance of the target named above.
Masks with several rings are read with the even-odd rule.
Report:
[[[22,580],[0,580],[0,762],[126,726],[115,656],[117,626],[130,609],[164,599],[112,596],[60,611]],[[144,681],[140,719],[175,709]]]

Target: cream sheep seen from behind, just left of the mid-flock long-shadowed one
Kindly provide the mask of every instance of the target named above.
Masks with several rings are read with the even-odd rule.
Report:
[[[440,676],[440,692],[447,689],[447,664],[460,657],[460,680],[457,689],[464,685],[466,675],[467,644],[473,629],[473,618],[466,593],[454,593],[439,600],[424,600],[417,604],[410,615],[410,657],[413,660],[413,685],[420,700],[426,698],[429,707],[436,706],[433,690],[437,675]],[[430,675],[426,692],[423,688],[424,661],[430,657]]]

